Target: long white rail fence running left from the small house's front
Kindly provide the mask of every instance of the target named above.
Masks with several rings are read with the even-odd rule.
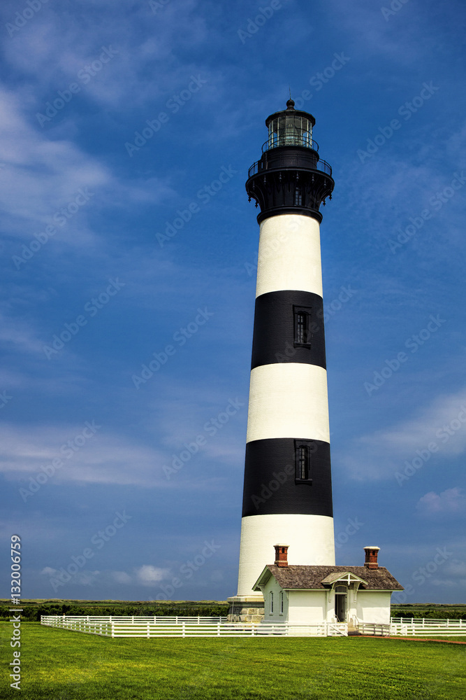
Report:
[[[347,636],[344,622],[288,624],[226,622],[225,617],[42,615],[41,624],[105,637],[328,637]]]

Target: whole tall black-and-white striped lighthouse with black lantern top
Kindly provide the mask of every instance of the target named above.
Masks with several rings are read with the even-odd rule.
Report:
[[[252,587],[277,543],[288,545],[290,564],[335,565],[319,211],[334,182],[314,124],[292,99],[270,115],[246,183],[261,211],[232,620],[261,615],[263,598]]]

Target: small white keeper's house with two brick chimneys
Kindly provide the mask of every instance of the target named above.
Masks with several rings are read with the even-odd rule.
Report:
[[[263,622],[389,624],[391,594],[403,587],[379,566],[379,547],[364,549],[364,566],[289,566],[288,545],[275,545],[275,564],[254,584],[265,601]]]

